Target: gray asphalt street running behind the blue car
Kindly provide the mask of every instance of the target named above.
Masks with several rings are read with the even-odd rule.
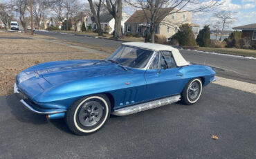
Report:
[[[40,35],[48,35],[57,37],[58,39],[75,41],[86,44],[98,44],[111,48],[118,48],[122,41],[113,41],[108,39],[96,39],[93,37],[82,37],[75,35],[60,34],[56,32],[36,32]],[[256,59],[245,59],[240,57],[231,57],[225,55],[214,55],[210,53],[201,53],[191,50],[180,50],[181,54],[189,62],[197,64],[205,64],[213,66],[217,75],[221,77],[228,77],[231,79],[238,79],[244,82],[256,84]]]

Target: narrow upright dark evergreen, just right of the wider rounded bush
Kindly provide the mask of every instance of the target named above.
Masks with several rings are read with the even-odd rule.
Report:
[[[199,35],[196,37],[196,44],[201,47],[210,46],[210,28],[209,26],[204,26],[202,30],[199,31]]]

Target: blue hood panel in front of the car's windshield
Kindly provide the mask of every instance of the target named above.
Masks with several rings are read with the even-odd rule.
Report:
[[[84,62],[56,62],[55,65],[36,70],[52,85],[62,84],[78,79],[114,75],[124,73],[124,70],[116,64],[104,60],[84,60]]]

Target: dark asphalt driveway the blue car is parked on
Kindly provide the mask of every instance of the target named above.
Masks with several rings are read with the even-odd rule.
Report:
[[[256,158],[255,103],[251,93],[210,84],[192,106],[111,117],[97,133],[77,136],[9,95],[0,97],[0,158]]]

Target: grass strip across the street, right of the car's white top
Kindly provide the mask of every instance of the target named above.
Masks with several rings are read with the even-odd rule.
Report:
[[[249,49],[199,47],[199,48],[196,48],[196,50],[208,51],[212,53],[223,53],[223,54],[229,54],[229,55],[256,57],[256,50],[249,50]]]

